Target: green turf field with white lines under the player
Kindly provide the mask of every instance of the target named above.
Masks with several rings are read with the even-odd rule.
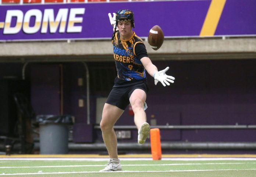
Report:
[[[0,158],[0,176],[256,177],[256,158],[120,158],[122,172],[99,172],[106,158]]]

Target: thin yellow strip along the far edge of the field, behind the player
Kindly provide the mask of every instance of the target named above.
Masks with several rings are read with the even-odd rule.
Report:
[[[125,154],[120,158],[152,158],[152,154]],[[163,158],[256,158],[256,154],[162,154]],[[14,154],[0,155],[0,158],[109,158],[99,154]]]

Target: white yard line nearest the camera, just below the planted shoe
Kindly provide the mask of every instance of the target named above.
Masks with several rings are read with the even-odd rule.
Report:
[[[72,173],[127,173],[127,172],[136,172],[136,173],[145,173],[145,172],[206,172],[206,171],[231,171],[231,170],[256,170],[256,169],[222,169],[222,170],[166,170],[166,171],[117,171],[117,172],[53,172],[53,173],[13,173],[13,174],[0,174],[3,175],[28,175],[28,174],[72,174]]]

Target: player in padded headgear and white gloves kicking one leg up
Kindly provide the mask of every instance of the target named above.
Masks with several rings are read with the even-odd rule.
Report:
[[[134,13],[131,10],[119,10],[109,13],[111,25],[114,27],[112,44],[114,49],[117,77],[114,86],[103,108],[100,128],[104,143],[110,156],[107,166],[100,170],[122,170],[117,154],[117,138],[113,126],[122,115],[128,104],[134,111],[134,122],[138,128],[138,143],[144,144],[150,131],[146,122],[146,94],[148,92],[146,72],[154,77],[155,84],[161,82],[164,86],[174,83],[174,77],[166,75],[166,69],[158,71],[147,56],[145,45],[141,38],[132,31]]]

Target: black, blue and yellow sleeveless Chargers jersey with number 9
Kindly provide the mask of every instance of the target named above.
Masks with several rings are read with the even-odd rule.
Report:
[[[136,81],[146,78],[145,68],[140,60],[142,56],[135,52],[135,46],[143,44],[143,41],[135,32],[133,33],[128,40],[122,40],[119,32],[113,34],[112,44],[117,77],[125,81]],[[145,48],[144,44],[143,47]],[[143,54],[143,56],[147,56],[147,54]]]

